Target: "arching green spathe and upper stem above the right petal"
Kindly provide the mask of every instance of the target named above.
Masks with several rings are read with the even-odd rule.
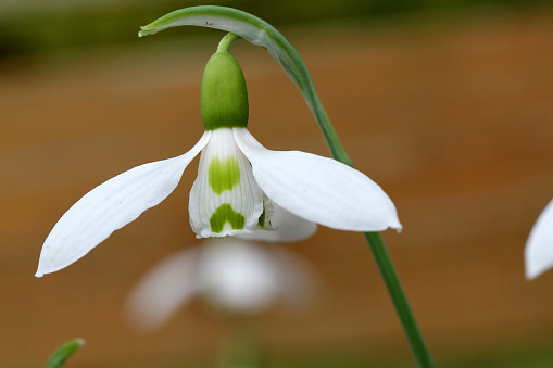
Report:
[[[323,107],[311,75],[300,54],[288,40],[267,22],[242,11],[215,5],[191,7],[168,13],[140,27],[139,36],[155,34],[165,28],[193,25],[231,31],[265,48],[282,66],[288,77],[298,86],[315,116],[332,156],[351,165],[343,147]]]

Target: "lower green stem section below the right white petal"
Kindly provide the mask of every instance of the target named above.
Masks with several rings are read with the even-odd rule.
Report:
[[[415,355],[415,360],[419,367],[433,367],[432,358],[426,347],[423,334],[418,329],[415,316],[409,305],[407,297],[401,285],[400,279],[393,267],[392,261],[382,238],[379,232],[365,232],[365,238],[373,251],[376,264],[380,270],[380,275],[386,283],[388,293],[393,302],[395,312],[398,313],[403,330],[407,335],[411,350]]]

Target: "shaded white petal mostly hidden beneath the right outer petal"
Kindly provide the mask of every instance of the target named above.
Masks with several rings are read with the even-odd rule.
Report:
[[[317,231],[317,224],[298,217],[276,203],[273,203],[273,207],[275,213],[271,219],[271,225],[276,230],[259,229],[252,233],[239,234],[237,238],[269,242],[290,242],[307,239]]]

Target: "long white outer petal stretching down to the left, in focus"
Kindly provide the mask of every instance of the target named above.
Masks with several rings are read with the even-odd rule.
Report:
[[[210,140],[205,132],[184,155],[131,168],[96,187],[55,224],[42,245],[36,277],[67,267],[163,201],[178,185],[186,166]]]

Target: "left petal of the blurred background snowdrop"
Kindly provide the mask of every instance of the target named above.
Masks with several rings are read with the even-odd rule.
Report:
[[[177,252],[158,263],[135,287],[125,306],[131,325],[142,330],[160,327],[197,288],[200,249]]]

